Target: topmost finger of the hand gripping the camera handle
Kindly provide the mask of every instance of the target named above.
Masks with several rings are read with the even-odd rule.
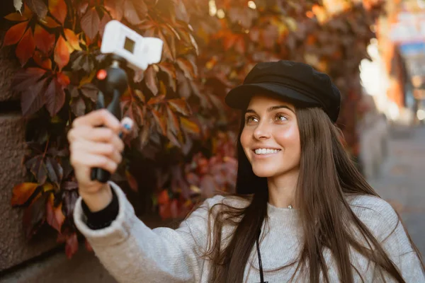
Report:
[[[112,129],[115,133],[119,133],[121,129],[120,121],[108,110],[94,110],[89,114],[78,117],[72,123],[72,127],[98,127],[104,126]]]

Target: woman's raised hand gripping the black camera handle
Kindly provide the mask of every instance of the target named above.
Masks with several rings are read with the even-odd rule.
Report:
[[[78,117],[68,132],[71,164],[79,183],[79,194],[92,211],[106,207],[112,194],[108,184],[91,180],[91,168],[115,173],[124,150],[119,134],[128,132],[131,126],[129,118],[120,123],[108,110],[102,109]]]

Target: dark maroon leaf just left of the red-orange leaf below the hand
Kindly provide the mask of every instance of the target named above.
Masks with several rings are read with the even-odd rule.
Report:
[[[46,220],[46,200],[47,194],[39,195],[23,212],[22,224],[27,239],[32,238]]]

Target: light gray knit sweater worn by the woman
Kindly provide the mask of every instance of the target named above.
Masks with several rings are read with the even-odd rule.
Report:
[[[236,207],[246,205],[245,200],[216,196],[206,200],[179,229],[149,229],[135,215],[123,191],[110,183],[118,195],[119,212],[111,226],[91,230],[81,207],[81,198],[74,209],[74,221],[81,233],[94,248],[96,256],[118,282],[208,282],[210,262],[200,254],[208,244],[208,208],[217,202]],[[353,212],[382,242],[391,260],[402,272],[406,282],[425,283],[419,258],[412,250],[402,224],[397,221],[394,209],[378,197],[358,196],[348,198]],[[206,208],[206,209],[205,209]],[[260,242],[264,279],[269,283],[288,282],[295,266],[278,272],[268,272],[296,260],[300,253],[302,231],[296,209],[283,209],[268,204],[268,224],[263,224]],[[391,233],[393,231],[393,233]],[[224,236],[232,229],[223,229]],[[339,282],[336,263],[329,250],[324,250],[331,282]],[[381,282],[378,268],[355,250],[351,262],[365,282]],[[353,272],[355,282],[361,282]],[[245,267],[244,282],[260,282],[256,248]],[[307,282],[298,274],[295,282]],[[387,279],[387,282],[394,282]]]

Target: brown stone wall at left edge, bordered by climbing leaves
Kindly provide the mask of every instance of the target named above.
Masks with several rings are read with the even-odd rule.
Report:
[[[0,1],[0,41],[13,12],[13,1]],[[26,151],[26,122],[18,93],[10,91],[13,74],[20,69],[13,48],[0,50],[0,282],[115,282],[93,253],[81,246],[68,260],[50,227],[33,240],[23,235],[23,209],[11,207],[14,185],[25,181],[22,159]]]

